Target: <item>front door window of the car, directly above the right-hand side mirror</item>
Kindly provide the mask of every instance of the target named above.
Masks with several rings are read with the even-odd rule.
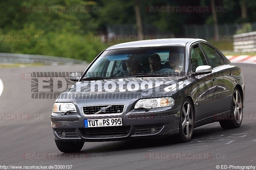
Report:
[[[191,70],[196,72],[196,68],[200,65],[208,65],[203,52],[198,45],[191,48]]]

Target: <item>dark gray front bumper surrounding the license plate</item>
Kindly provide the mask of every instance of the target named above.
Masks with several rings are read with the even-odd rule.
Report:
[[[85,128],[84,119],[122,118],[123,126]],[[179,133],[180,105],[145,110],[132,110],[116,116],[85,117],[84,115],[51,116],[56,140],[102,142],[134,138],[155,138]],[[150,128],[155,127],[154,133]],[[64,131],[66,136],[61,136]]]

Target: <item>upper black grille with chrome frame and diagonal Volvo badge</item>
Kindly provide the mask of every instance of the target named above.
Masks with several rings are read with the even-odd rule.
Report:
[[[101,111],[104,108],[105,111]],[[96,106],[83,106],[85,115],[93,114],[122,114],[124,111],[124,105],[96,105]]]

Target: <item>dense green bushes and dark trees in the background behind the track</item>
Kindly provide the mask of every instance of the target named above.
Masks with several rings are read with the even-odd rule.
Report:
[[[1,0],[0,52],[40,54],[92,61],[109,43],[92,41],[92,36],[106,34],[108,25],[136,26],[136,0]],[[148,6],[210,6],[210,1],[137,0],[143,25],[156,26],[160,31],[183,36],[184,24],[214,24],[212,13],[149,13]],[[245,8],[241,6],[245,4]],[[216,0],[220,23],[252,22],[256,3],[250,0]],[[31,7],[85,6],[85,12],[38,12]],[[28,10],[30,8],[30,11]],[[241,9],[246,15],[241,15]],[[245,17],[245,18],[244,18]],[[25,37],[24,37],[25,36]],[[21,37],[21,39],[20,39]],[[120,43],[120,42],[119,42]]]

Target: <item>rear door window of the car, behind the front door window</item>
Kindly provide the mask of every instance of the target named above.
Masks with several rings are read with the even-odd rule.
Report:
[[[208,59],[212,68],[222,65],[222,63],[220,62],[218,53],[214,48],[208,46],[207,44],[201,44],[201,46],[203,47],[206,55],[208,56]]]

